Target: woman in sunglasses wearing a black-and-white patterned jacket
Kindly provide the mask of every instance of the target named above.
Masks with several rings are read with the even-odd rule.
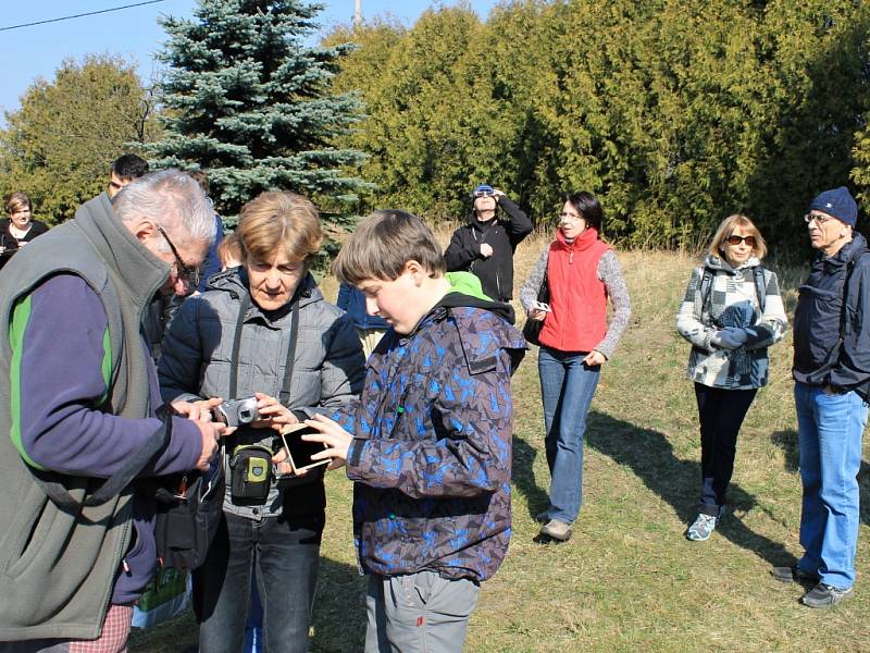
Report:
[[[737,433],[768,382],[768,347],[787,321],[776,275],[761,266],[765,239],[746,215],[725,218],[692,271],[676,331],[692,343],[687,375],[700,421],[700,507],[686,538],[710,539],[725,508]]]

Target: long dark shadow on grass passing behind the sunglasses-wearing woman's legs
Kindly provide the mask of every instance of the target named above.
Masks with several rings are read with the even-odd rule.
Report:
[[[593,410],[589,412],[586,442],[593,448],[629,467],[647,488],[667,501],[687,526],[698,512],[700,464],[681,460],[668,439],[658,431],[636,426]],[[737,546],[754,552],[771,565],[791,565],[795,557],[785,547],[749,529],[737,512],[756,507],[755,496],[732,483],[729,486],[731,510],[717,532]]]

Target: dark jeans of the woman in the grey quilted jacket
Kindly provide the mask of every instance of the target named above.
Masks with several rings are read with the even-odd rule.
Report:
[[[324,515],[248,519],[224,513],[206,563],[194,571],[201,653],[240,653],[251,572],[270,653],[308,651]]]

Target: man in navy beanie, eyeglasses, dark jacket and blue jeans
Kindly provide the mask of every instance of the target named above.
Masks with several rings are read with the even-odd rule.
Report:
[[[870,256],[857,218],[844,186],[818,195],[804,217],[818,251],[798,295],[792,368],[804,556],[772,572],[811,586],[800,600],[809,607],[848,599],[855,583],[857,476],[870,393]]]

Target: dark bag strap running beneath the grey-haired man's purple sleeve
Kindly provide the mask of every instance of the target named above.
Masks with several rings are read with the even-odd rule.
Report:
[[[163,404],[158,408],[157,416],[160,418],[160,428],[151,433],[145,445],[129,457],[124,467],[109,477],[94,494],[84,501],[79,502],[73,498],[63,483],[57,480],[58,472],[32,468],[34,478],[42,488],[46,496],[63,509],[77,513],[83,507],[101,506],[121,494],[124,488],[129,485],[148,461],[154,457],[154,454],[166,447],[172,438],[173,415],[174,411],[169,404]]]

